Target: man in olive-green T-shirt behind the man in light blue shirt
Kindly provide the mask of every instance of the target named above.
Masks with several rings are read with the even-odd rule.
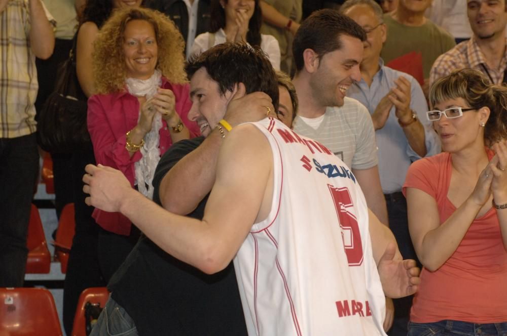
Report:
[[[431,0],[400,0],[394,12],[384,14],[389,35],[381,53],[386,63],[411,52],[421,53],[426,97],[431,65],[456,45],[454,37],[424,16],[430,6]]]

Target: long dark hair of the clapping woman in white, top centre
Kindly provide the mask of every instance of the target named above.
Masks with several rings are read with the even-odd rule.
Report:
[[[224,0],[227,4],[228,0]],[[220,28],[225,28],[225,10],[220,4],[220,0],[211,0],[209,9],[209,20],[210,32],[214,33]],[[255,0],[255,7],[253,8],[253,14],[248,22],[248,32],[246,33],[246,42],[251,46],[261,46],[261,25],[262,25],[262,10],[259,5],[259,0]]]

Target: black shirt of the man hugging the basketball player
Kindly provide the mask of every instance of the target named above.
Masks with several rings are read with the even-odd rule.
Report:
[[[163,155],[153,179],[154,201],[165,174],[204,138],[179,141]],[[188,216],[202,219],[206,196]],[[231,264],[207,275],[181,262],[142,235],[108,289],[134,319],[141,336],[247,335]]]

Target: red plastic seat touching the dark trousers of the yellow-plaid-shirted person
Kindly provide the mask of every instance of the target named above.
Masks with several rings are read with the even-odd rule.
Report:
[[[44,235],[39,210],[33,204],[30,209],[26,247],[28,248],[28,259],[26,260],[25,272],[49,273],[51,268],[51,254],[49,253],[46,236]]]

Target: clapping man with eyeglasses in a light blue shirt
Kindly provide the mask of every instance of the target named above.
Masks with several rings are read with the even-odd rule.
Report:
[[[361,79],[352,84],[347,96],[365,105],[372,116],[389,227],[403,257],[417,259],[408,231],[407,201],[401,190],[412,161],[439,153],[440,141],[427,120],[428,107],[417,80],[384,66],[380,58],[387,35],[382,8],[374,0],[347,0],[340,12],[367,33],[359,66]],[[407,334],[411,303],[411,297],[394,300],[395,320],[390,335]],[[388,301],[389,305],[392,307]],[[384,321],[385,330],[392,324],[392,310],[390,317]]]

